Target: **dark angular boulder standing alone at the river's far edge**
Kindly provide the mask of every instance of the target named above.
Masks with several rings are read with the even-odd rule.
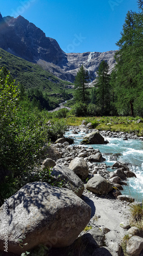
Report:
[[[99,131],[95,131],[86,135],[82,142],[82,144],[104,144],[104,138],[99,133]]]

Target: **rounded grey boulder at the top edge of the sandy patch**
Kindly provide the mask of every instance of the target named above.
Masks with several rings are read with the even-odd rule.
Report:
[[[88,181],[86,188],[96,194],[103,195],[112,190],[112,185],[110,181],[103,178],[100,174],[95,174],[94,177]]]

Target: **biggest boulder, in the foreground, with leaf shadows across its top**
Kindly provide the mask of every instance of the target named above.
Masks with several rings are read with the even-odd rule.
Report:
[[[69,189],[45,182],[26,184],[0,208],[0,251],[5,249],[6,231],[8,252],[15,254],[40,244],[69,246],[90,217],[91,207]]]

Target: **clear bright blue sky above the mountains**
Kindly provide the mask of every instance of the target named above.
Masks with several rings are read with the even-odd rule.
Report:
[[[65,52],[117,50],[128,10],[136,0],[1,0],[2,16],[23,16],[56,39]]]

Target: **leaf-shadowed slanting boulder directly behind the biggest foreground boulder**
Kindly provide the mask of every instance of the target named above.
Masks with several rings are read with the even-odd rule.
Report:
[[[73,170],[64,165],[55,165],[51,176],[57,181],[63,180],[65,188],[72,190],[78,197],[81,197],[84,191],[84,184]]]

